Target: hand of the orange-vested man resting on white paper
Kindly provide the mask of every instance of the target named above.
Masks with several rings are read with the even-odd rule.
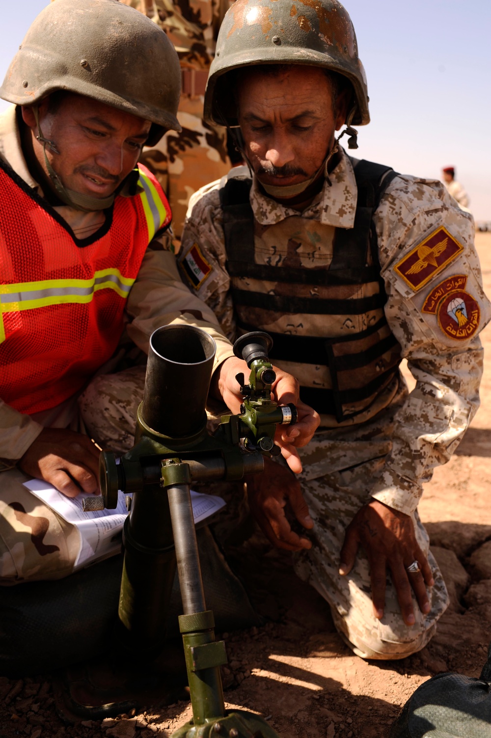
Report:
[[[80,491],[99,494],[100,450],[86,435],[44,428],[18,462],[24,474],[56,487],[66,497]]]

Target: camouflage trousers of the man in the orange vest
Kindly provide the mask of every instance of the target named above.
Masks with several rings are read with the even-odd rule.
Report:
[[[78,399],[78,430],[105,449],[128,451],[144,380],[145,366],[96,377]],[[27,478],[18,469],[0,473],[0,584],[62,579],[78,555],[78,529],[24,487]]]

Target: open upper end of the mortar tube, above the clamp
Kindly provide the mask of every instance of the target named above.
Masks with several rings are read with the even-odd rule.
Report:
[[[170,438],[186,438],[206,423],[216,343],[190,325],[166,325],[150,337],[142,417]]]

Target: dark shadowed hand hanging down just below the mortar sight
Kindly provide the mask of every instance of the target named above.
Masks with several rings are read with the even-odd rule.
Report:
[[[247,500],[255,520],[272,545],[286,548],[286,551],[312,548],[309,539],[292,531],[286,519],[288,504],[303,528],[309,530],[314,525],[298,479],[283,464],[265,458],[264,472],[247,477]]]

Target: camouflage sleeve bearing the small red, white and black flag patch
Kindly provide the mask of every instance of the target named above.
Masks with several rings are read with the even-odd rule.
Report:
[[[178,262],[182,279],[219,320],[222,331],[233,341],[236,323],[227,274],[222,210],[217,180],[202,187],[190,199],[188,217],[182,232]]]

